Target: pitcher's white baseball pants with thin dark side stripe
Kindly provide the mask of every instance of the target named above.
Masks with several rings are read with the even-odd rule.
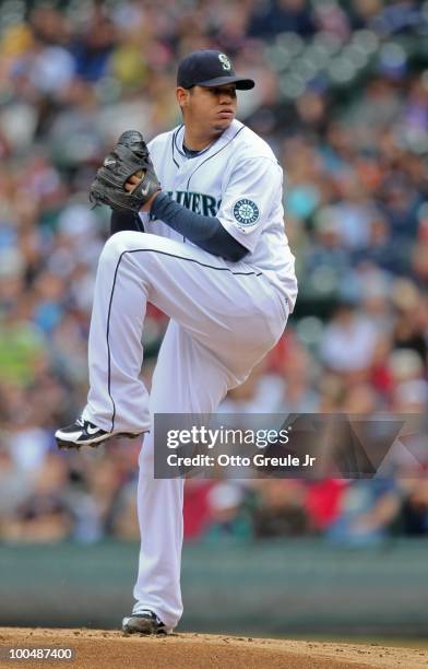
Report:
[[[140,379],[146,303],[170,317],[148,398]],[[193,245],[120,232],[99,258],[83,416],[106,431],[145,432],[155,413],[211,413],[281,337],[285,300],[258,270]],[[154,479],[153,434],[140,455],[141,552],[134,612],[175,627],[182,613],[183,479]]]

